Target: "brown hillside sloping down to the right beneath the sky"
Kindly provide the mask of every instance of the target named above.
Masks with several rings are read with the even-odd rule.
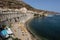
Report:
[[[0,0],[0,8],[20,9],[22,7],[25,7],[28,10],[36,11],[36,12],[43,11],[45,13],[46,12],[55,13],[55,12],[35,9],[35,8],[31,7],[30,5],[26,4],[25,2],[23,2],[22,0]]]

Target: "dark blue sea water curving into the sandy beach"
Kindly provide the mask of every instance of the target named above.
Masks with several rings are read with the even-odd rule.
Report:
[[[60,15],[33,18],[29,23],[29,28],[38,37],[60,40]]]

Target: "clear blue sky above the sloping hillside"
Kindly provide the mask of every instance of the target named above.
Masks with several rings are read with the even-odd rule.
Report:
[[[23,0],[34,8],[60,13],[60,0]]]

